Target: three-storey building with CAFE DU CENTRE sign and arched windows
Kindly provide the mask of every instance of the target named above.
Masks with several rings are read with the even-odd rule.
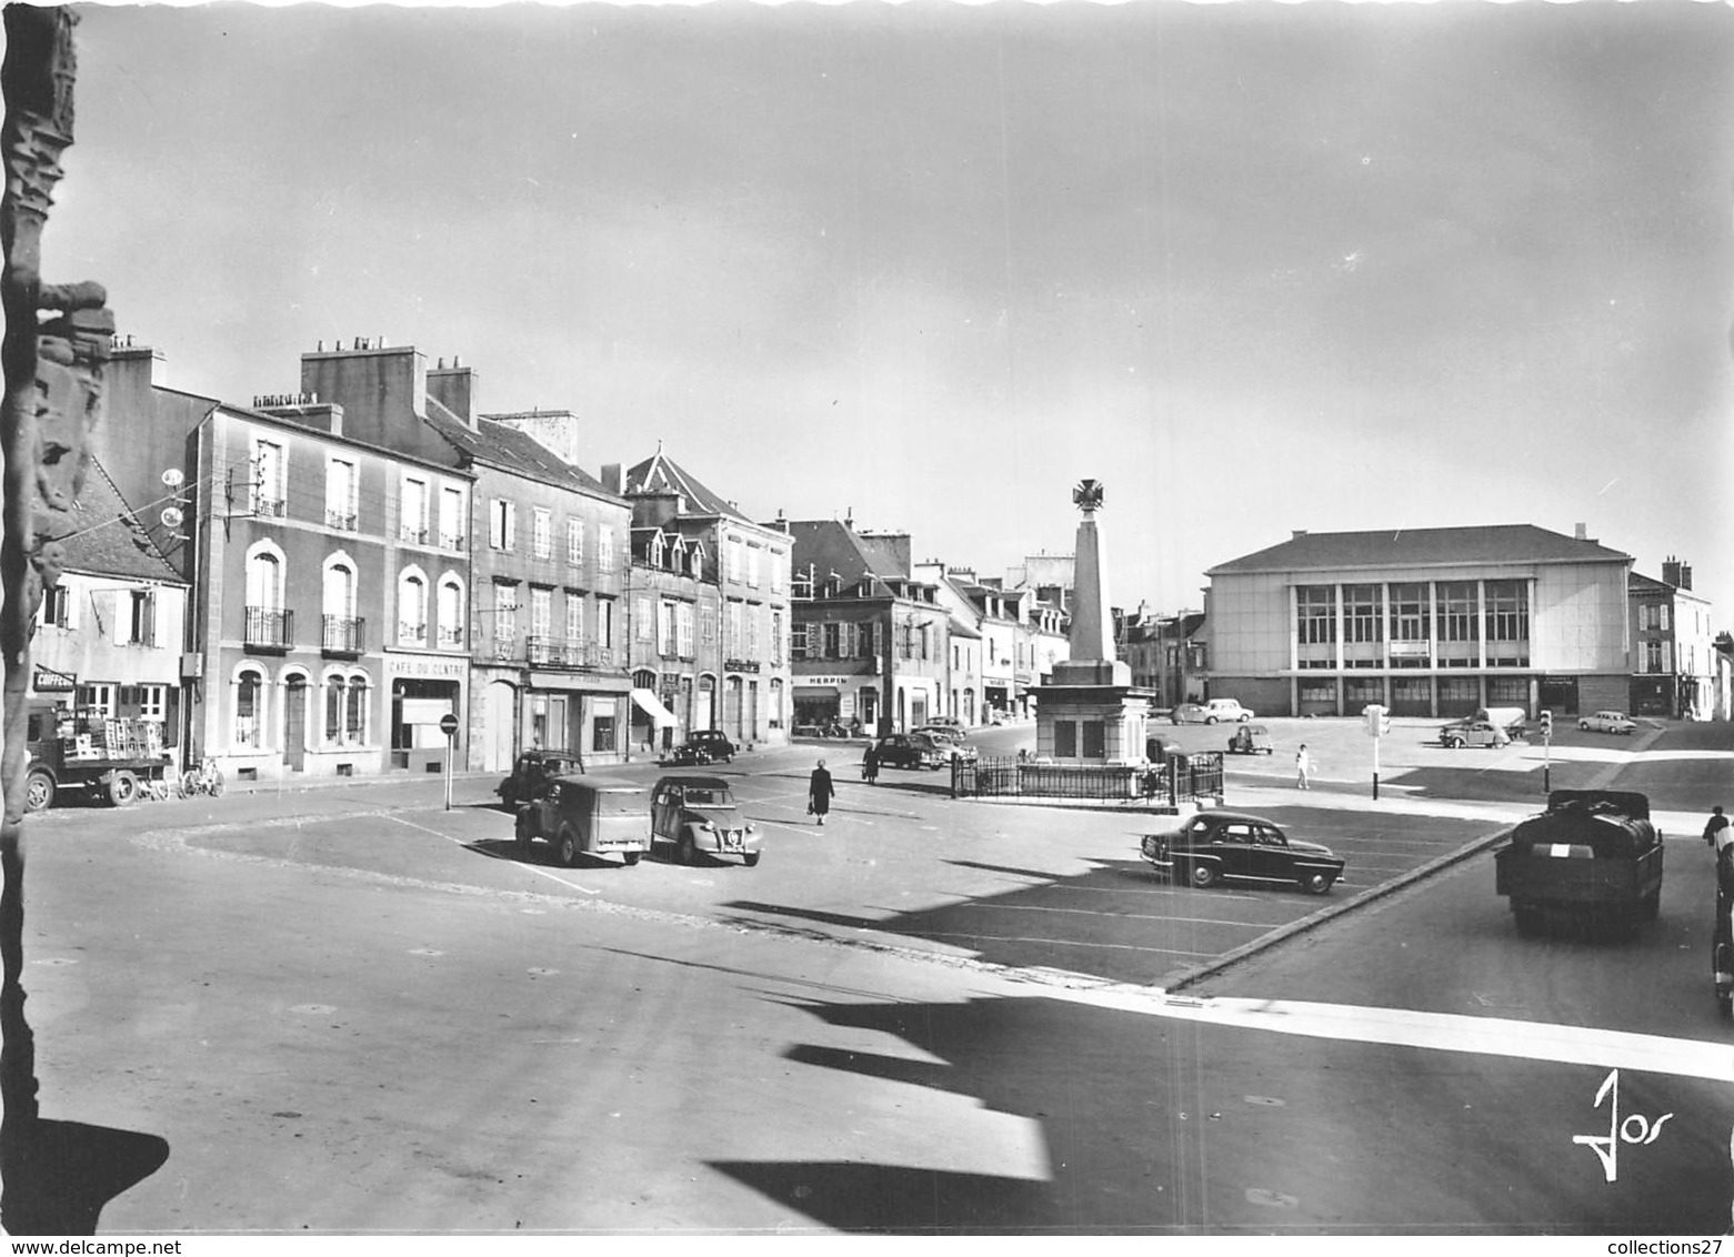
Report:
[[[449,529],[406,532],[399,498],[466,511],[470,477],[439,442],[350,433],[316,390],[239,406],[165,387],[161,362],[116,343],[94,454],[191,584],[187,758],[241,782],[442,768],[468,557]]]

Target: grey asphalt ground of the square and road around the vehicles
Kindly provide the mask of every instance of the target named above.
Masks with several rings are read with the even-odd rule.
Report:
[[[1517,940],[1476,856],[1342,912],[1538,806],[1536,780],[1517,763],[1491,791],[1509,804],[1394,789],[1372,811],[1328,772],[1365,735],[1306,725],[1323,789],[1236,765],[1231,803],[1349,858],[1323,898],[1170,888],[1136,856],[1150,817],[961,803],[935,775],[839,772],[817,829],[805,773],[853,763],[841,747],[725,770],[766,832],[751,870],[517,862],[477,778],[449,811],[428,780],[57,810],[33,822],[26,924],[43,1115],[166,1141],[97,1202],[104,1233],[1727,1219],[1725,1087],[1675,1061],[1727,1039],[1685,950],[1691,884],[1672,874],[1625,948]],[[1713,728],[1720,749],[1673,730],[1625,772],[1684,773],[1670,789],[1698,806],[1725,773]],[[1571,772],[1620,772],[1583,751]],[[1320,910],[1337,915],[1210,967]],[[1278,1000],[1349,1009],[1346,1037]],[[1437,1045],[1380,1042],[1377,1009]],[[1568,1130],[1597,1129],[1632,1045],[1500,1056],[1458,1019],[1505,1042],[1529,1033],[1505,1021],[1665,1039],[1625,1066],[1621,1111],[1677,1117],[1600,1182]]]

